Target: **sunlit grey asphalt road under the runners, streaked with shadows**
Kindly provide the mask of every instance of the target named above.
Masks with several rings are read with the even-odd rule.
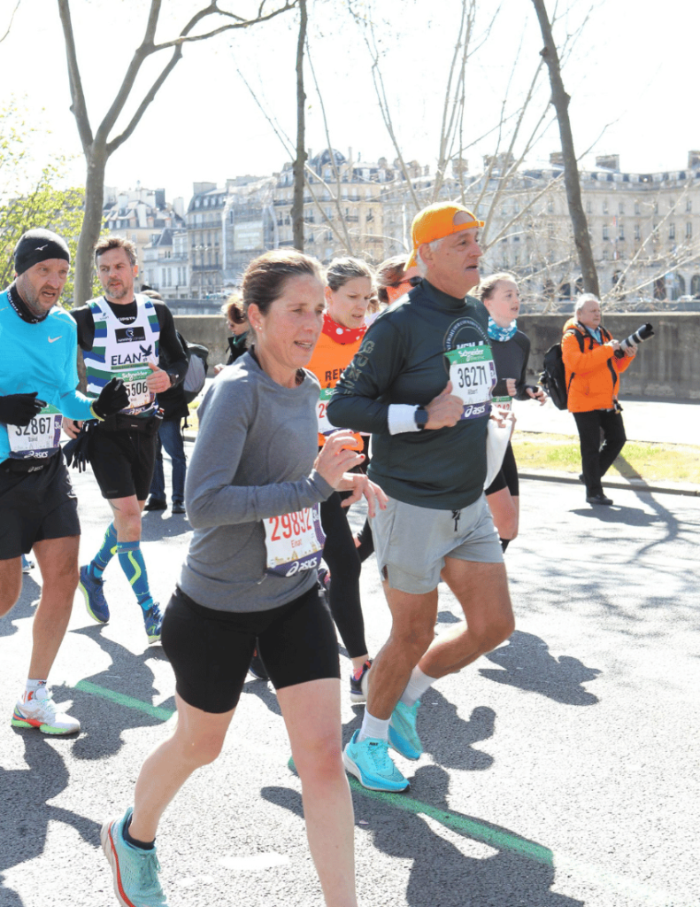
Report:
[[[76,480],[83,561],[109,519],[92,475]],[[397,757],[406,795],[353,783],[359,902],[366,907],[696,907],[698,658],[695,498],[616,491],[593,509],[577,485],[525,481],[507,564],[518,629],[424,699],[425,755]],[[362,521],[357,512],[353,519]],[[151,586],[165,603],[190,539],[184,517],[144,519]],[[113,618],[76,596],[53,671],[77,738],[18,731],[40,577],[0,621],[0,907],[115,903],[99,849],[105,816],[131,802],[167,733],[173,678],[146,645],[116,562]],[[375,651],[387,610],[363,575]],[[441,587],[437,631],[458,619]],[[349,662],[341,658],[344,676]],[[362,708],[344,697],[344,739]],[[160,829],[170,907],[320,907],[300,785],[277,699],[249,681],[223,755],[180,792]]]

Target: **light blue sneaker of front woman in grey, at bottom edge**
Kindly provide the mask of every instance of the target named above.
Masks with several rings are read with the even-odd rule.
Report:
[[[144,851],[124,840],[124,827],[132,812],[130,806],[121,819],[110,819],[100,831],[102,850],[112,867],[117,901],[122,907],[168,907],[158,881],[160,863],[155,847]]]

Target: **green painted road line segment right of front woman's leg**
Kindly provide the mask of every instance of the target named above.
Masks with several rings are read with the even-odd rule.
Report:
[[[287,766],[297,773],[297,767],[294,760],[289,759]],[[545,866],[554,866],[554,854],[549,847],[543,847],[541,844],[534,844],[526,838],[520,838],[517,834],[503,832],[498,828],[492,828],[491,825],[477,822],[475,819],[468,819],[459,813],[452,813],[449,809],[441,809],[439,806],[432,806],[416,800],[405,794],[388,794],[384,791],[371,791],[360,784],[352,777],[348,777],[350,786],[355,794],[361,794],[370,800],[380,800],[382,803],[388,803],[396,809],[403,810],[404,813],[413,813],[415,815],[429,816],[435,822],[439,822],[446,828],[458,834],[464,834],[473,838],[474,841],[481,841],[482,844],[489,844],[497,850],[510,850],[513,853],[520,853],[522,856],[534,860],[536,863],[542,863]]]

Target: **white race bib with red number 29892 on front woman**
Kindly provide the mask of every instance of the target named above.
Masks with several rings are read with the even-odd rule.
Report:
[[[269,517],[263,524],[268,573],[294,576],[316,570],[326,541],[318,504],[296,513]]]

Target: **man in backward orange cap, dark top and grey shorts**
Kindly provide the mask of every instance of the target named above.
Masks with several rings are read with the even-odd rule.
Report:
[[[344,753],[346,769],[375,790],[408,786],[388,746],[421,756],[416,717],[426,690],[514,627],[483,494],[496,381],[488,312],[467,295],[479,283],[482,226],[453,202],[416,215],[406,267],[416,265],[423,280],[376,319],[328,406],[333,424],[372,433],[369,474],[389,496],[372,532],[392,631]],[[441,578],[465,620],[433,639]]]

